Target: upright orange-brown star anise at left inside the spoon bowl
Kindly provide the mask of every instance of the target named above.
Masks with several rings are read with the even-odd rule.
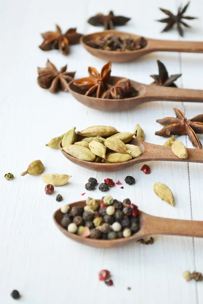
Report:
[[[86,91],[86,96],[93,96],[96,93],[96,97],[99,98],[107,87],[111,74],[111,62],[109,61],[103,66],[100,74],[94,67],[88,67],[88,72],[89,77],[74,81],[74,85],[82,91]]]

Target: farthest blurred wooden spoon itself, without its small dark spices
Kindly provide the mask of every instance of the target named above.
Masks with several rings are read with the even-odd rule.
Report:
[[[107,34],[114,34],[116,37],[126,38],[132,37],[134,40],[140,38],[139,35],[125,33],[118,30],[104,30],[103,32],[97,32],[93,34],[84,35],[81,37],[80,41],[83,47],[93,56],[105,61],[112,62],[127,62],[137,60],[143,55],[149,54],[151,52],[163,51],[163,52],[185,52],[185,53],[203,53],[203,42],[196,41],[170,41],[170,40],[147,40],[147,45],[143,49],[135,51],[105,51],[99,50],[87,45],[90,40],[95,40],[97,37],[103,37]]]

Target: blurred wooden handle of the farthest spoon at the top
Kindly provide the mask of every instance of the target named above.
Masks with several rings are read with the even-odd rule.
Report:
[[[150,39],[149,47],[156,51],[203,53],[203,42],[196,41],[168,41]]]

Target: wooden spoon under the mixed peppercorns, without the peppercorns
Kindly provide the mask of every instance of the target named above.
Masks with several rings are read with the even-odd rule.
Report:
[[[100,200],[98,200],[100,201]],[[70,207],[86,205],[85,201],[79,201],[70,204]],[[89,245],[97,248],[113,248],[126,245],[132,241],[139,240],[141,238],[151,235],[177,235],[188,237],[203,237],[203,221],[195,220],[179,220],[170,219],[149,215],[139,210],[140,214],[140,230],[129,238],[117,239],[117,240],[92,240],[89,238],[82,238],[78,235],[72,234],[64,229],[60,222],[63,217],[63,213],[60,209],[56,210],[53,214],[53,219],[60,231],[66,236],[79,243]]]

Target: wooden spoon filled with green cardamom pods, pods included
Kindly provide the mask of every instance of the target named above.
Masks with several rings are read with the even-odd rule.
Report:
[[[111,126],[92,126],[77,133],[75,129],[65,133],[59,148],[69,161],[89,170],[114,172],[147,161],[203,163],[202,149],[186,148],[175,138],[168,146],[138,140],[144,138],[139,125],[132,133]]]

